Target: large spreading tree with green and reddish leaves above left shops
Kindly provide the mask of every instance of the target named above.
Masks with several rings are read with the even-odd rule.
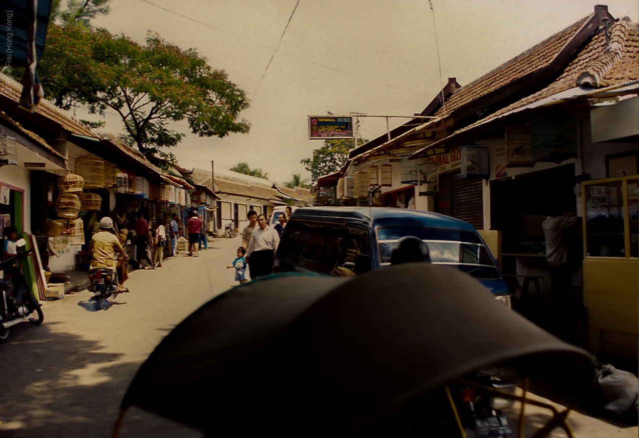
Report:
[[[126,132],[121,140],[164,169],[176,162],[165,149],[185,136],[170,123],[187,120],[200,137],[250,129],[239,119],[249,100],[226,72],[214,70],[194,49],[180,49],[155,34],[141,45],[105,29],[54,25],[38,66],[56,106],[115,111]]]

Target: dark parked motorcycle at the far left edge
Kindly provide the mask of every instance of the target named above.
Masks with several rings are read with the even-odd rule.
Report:
[[[17,241],[18,248],[26,245],[26,240]],[[17,256],[10,257],[0,263],[0,270],[5,274],[4,279],[0,279],[0,343],[4,343],[9,338],[9,327],[20,324],[20,322],[31,322],[40,325],[44,320],[40,303],[31,295],[26,288],[26,282],[20,272],[20,261],[33,253],[29,249]],[[9,274],[11,278],[7,278]],[[15,298],[18,291],[22,291],[20,301]]]

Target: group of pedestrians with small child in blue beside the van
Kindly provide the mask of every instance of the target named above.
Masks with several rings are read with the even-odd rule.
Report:
[[[249,210],[247,213],[249,224],[242,230],[242,246],[237,249],[237,257],[233,263],[227,266],[227,269],[235,268],[235,281],[240,283],[247,281],[247,265],[251,279],[273,273],[275,249],[279,245],[282,231],[292,212],[293,208],[286,207],[285,212],[278,215],[278,223],[271,227],[266,215],[258,215],[255,210]]]

